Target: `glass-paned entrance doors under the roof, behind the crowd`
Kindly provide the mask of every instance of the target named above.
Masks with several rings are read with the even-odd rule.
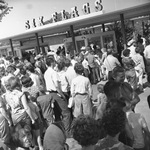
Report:
[[[83,46],[96,45],[98,49],[108,48],[108,45],[112,45],[114,50],[117,52],[116,37],[114,31],[87,34],[75,37],[76,51],[72,42],[72,38],[64,39],[64,45],[66,51],[69,51],[71,55],[79,53]]]

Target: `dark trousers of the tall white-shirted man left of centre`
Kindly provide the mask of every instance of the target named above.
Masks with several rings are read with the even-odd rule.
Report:
[[[66,133],[68,134],[70,132],[70,126],[71,126],[71,113],[68,108],[67,102],[61,98],[58,93],[51,92],[50,95],[55,100],[54,104],[54,113],[56,114],[56,118],[59,118],[58,115],[61,113],[62,116],[62,122],[64,124]]]

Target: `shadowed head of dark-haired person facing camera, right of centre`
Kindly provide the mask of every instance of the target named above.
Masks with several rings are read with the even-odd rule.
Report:
[[[121,66],[117,66],[112,71],[112,77],[116,82],[124,82],[125,80],[125,70]]]

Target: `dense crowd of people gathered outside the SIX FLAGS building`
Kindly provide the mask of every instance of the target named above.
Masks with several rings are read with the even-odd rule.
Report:
[[[135,112],[143,76],[150,82],[148,42],[132,39],[122,61],[110,45],[100,55],[89,46],[73,56],[59,49],[30,59],[2,57],[1,148],[150,150],[146,120]]]

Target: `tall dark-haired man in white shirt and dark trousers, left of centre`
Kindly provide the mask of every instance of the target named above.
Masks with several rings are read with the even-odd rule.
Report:
[[[62,115],[62,121],[66,130],[66,134],[70,132],[71,113],[67,107],[66,97],[61,90],[60,79],[58,73],[54,70],[55,60],[53,57],[46,58],[47,70],[44,73],[46,89],[55,100],[54,109]],[[56,107],[57,106],[57,107]],[[56,118],[57,119],[57,118]]]

